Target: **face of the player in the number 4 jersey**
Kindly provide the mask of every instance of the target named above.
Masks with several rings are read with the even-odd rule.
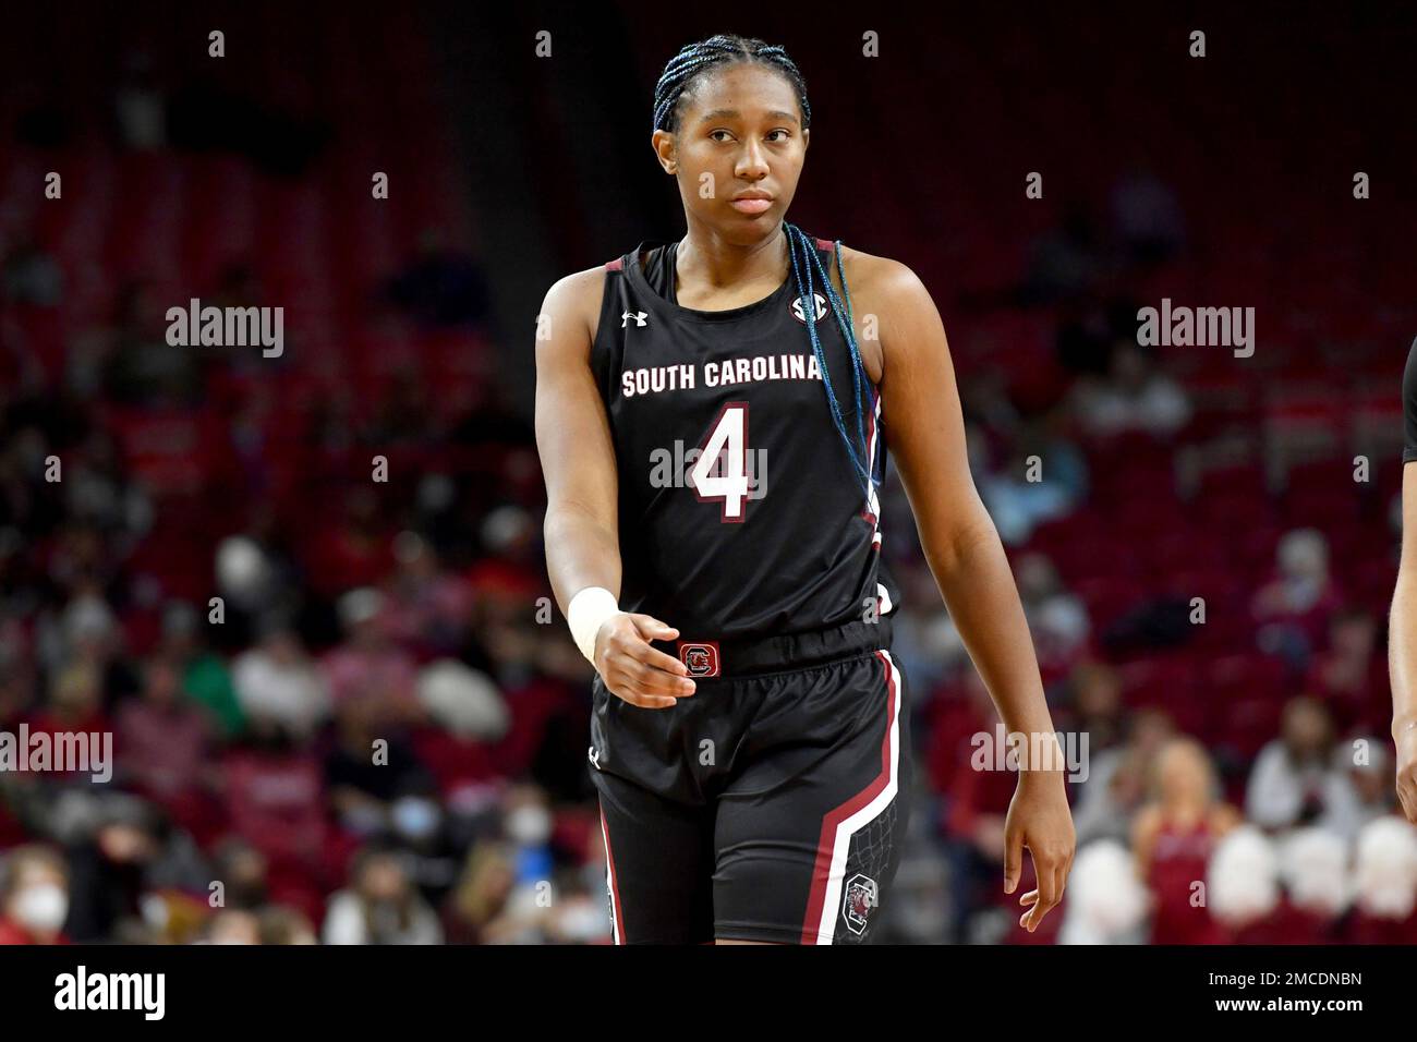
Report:
[[[683,99],[679,133],[656,133],[689,214],[738,242],[777,231],[796,194],[806,146],[792,85],[750,64],[700,79]]]

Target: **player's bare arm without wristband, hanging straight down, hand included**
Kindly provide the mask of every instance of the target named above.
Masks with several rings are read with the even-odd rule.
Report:
[[[1019,750],[1017,791],[1006,822],[1005,892],[1017,887],[1023,848],[1029,848],[1039,886],[1019,903],[1032,906],[1020,919],[1032,931],[1061,900],[1076,845],[1063,756],[1033,641],[999,533],[969,475],[959,391],[939,312],[905,265],[869,258],[857,267],[869,295],[860,310],[869,308],[879,320],[881,422],[925,560],[1005,727],[1029,736]],[[1040,749],[1050,751],[1047,761],[1033,761]]]

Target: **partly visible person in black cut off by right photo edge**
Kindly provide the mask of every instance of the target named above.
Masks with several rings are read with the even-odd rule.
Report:
[[[1397,800],[1417,824],[1417,340],[1403,371],[1403,550],[1387,625],[1387,666],[1393,686],[1393,741],[1397,746]]]

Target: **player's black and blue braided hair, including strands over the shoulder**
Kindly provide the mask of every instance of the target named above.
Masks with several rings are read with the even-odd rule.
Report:
[[[768,45],[761,40],[750,37],[720,34],[708,37],[700,43],[686,45],[679,51],[679,54],[670,58],[667,65],[665,65],[665,71],[659,77],[659,84],[655,85],[653,129],[677,133],[680,116],[679,102],[684,96],[684,92],[689,91],[700,77],[706,75],[711,69],[726,68],[740,62],[765,65],[786,77],[792,89],[796,92],[798,105],[802,109],[802,128],[806,129],[811,126],[812,106],[806,99],[806,81],[802,78],[802,74],[798,71],[792,58],[788,57],[786,50],[778,45]],[[782,227],[788,237],[788,254],[792,259],[792,276],[796,281],[798,293],[801,295],[802,313],[806,319],[808,339],[812,342],[812,353],[816,356],[818,369],[822,371],[826,403],[832,410],[832,422],[836,425],[837,434],[842,435],[842,442],[846,445],[846,451],[852,458],[852,465],[856,468],[857,478],[860,478],[862,485],[866,489],[866,499],[870,502],[873,491],[880,486],[880,478],[876,474],[876,461],[870,458],[863,422],[866,410],[862,403],[862,386],[870,381],[870,376],[866,373],[866,364],[862,362],[862,352],[856,343],[856,333],[852,327],[852,293],[846,286],[846,272],[842,268],[842,242],[837,240],[833,244],[833,255],[836,257],[836,274],[840,278],[842,291],[846,295],[845,305],[836,295],[835,286],[832,286],[832,278],[822,265],[822,258],[818,254],[813,240],[795,224],[785,221]],[[846,339],[846,346],[852,354],[856,441],[853,441],[852,435],[847,434],[846,418],[842,415],[840,403],[836,400],[836,391],[832,387],[832,376],[826,366],[826,356],[822,352],[822,342],[816,335],[815,284],[818,278],[820,278],[822,289],[826,292],[826,298],[832,305],[832,315],[836,319],[836,325],[842,329],[842,336]]]

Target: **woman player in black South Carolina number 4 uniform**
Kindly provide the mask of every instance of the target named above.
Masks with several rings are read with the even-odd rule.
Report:
[[[811,118],[781,47],[686,47],[652,142],[687,235],[570,275],[543,305],[547,560],[598,672],[588,770],[616,943],[876,933],[913,780],[880,559],[887,431],[1007,730],[1053,733],[930,293],[785,221]],[[1074,839],[1061,754],[1020,767],[1005,890],[1029,848],[1032,930]]]

